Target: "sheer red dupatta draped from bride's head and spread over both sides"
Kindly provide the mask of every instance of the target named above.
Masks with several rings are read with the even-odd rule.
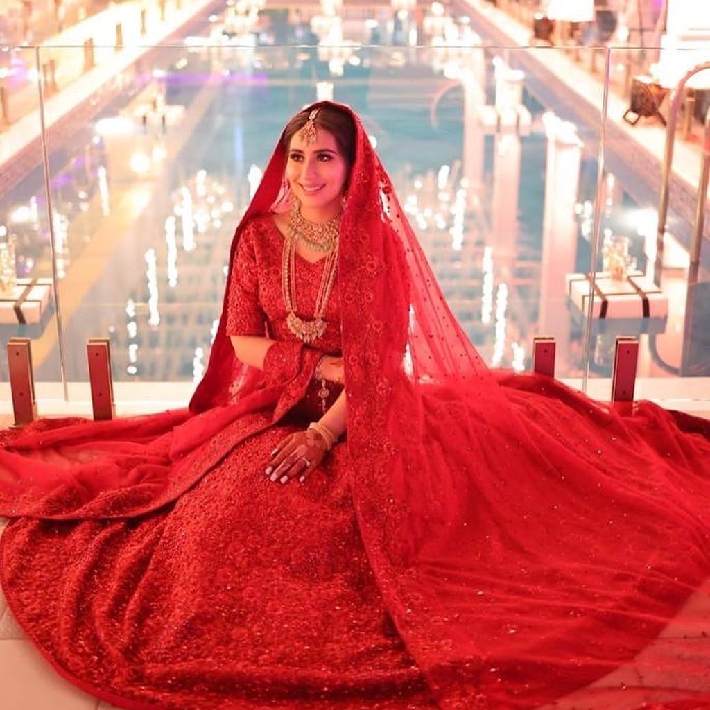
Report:
[[[353,118],[342,445],[378,586],[437,702],[710,707],[704,424],[650,403],[623,417],[554,381],[489,371]],[[279,143],[232,257],[244,224],[278,208],[284,164]],[[45,422],[9,442],[0,514],[145,515],[288,412],[317,357],[280,344],[265,374],[241,366],[224,320],[189,411]]]

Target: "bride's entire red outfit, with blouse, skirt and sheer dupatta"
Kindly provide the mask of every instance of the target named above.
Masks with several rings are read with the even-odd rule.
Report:
[[[139,710],[710,708],[706,422],[488,371],[354,118],[322,339],[284,327],[279,146],[190,410],[4,432],[19,623]],[[296,268],[307,316],[322,263]],[[241,366],[226,336],[265,327],[264,371]],[[340,352],[346,437],[305,484],[267,481]]]

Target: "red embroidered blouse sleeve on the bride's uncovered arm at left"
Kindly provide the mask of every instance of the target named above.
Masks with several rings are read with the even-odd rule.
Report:
[[[266,315],[258,296],[254,227],[248,224],[236,246],[226,304],[227,335],[266,334]]]

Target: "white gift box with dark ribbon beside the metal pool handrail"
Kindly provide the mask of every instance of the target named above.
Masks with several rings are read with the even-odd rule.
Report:
[[[589,274],[570,273],[566,277],[567,295],[586,315],[589,307]],[[640,271],[630,271],[623,280],[606,272],[596,273],[592,317],[599,319],[665,318],[668,297]]]

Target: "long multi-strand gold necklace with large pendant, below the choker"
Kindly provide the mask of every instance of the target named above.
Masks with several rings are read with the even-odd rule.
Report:
[[[325,264],[320,278],[320,287],[315,300],[315,313],[313,320],[303,320],[295,314],[296,310],[296,244],[299,235],[292,232],[291,236],[284,237],[283,254],[281,258],[281,287],[283,302],[286,307],[286,325],[295,337],[305,343],[312,343],[324,335],[327,323],[323,320],[325,309],[330,299],[330,294],[335,283],[335,274],[338,268],[338,244],[324,257]]]

